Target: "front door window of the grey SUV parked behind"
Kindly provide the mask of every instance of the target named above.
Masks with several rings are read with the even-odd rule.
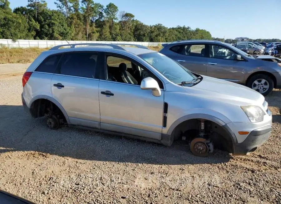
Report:
[[[234,60],[236,53],[221,45],[209,45],[210,58]]]

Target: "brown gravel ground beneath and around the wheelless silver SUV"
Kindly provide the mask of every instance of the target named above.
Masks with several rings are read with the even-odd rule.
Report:
[[[279,90],[267,97],[274,123],[263,146],[248,156],[215,150],[198,158],[182,142],[49,130],[23,111],[21,79],[0,74],[2,190],[36,203],[281,203]]]

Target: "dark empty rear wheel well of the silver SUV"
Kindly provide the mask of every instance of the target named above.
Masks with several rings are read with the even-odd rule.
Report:
[[[37,99],[31,104],[31,115],[34,118],[43,117],[45,114],[59,115],[61,119],[66,121],[61,109],[52,101],[47,99]]]

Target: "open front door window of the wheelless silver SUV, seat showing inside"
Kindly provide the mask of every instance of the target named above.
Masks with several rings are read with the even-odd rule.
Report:
[[[154,78],[160,88],[163,88],[162,82],[155,77],[150,71],[136,65],[126,59],[107,56],[107,80],[116,81],[126,84],[141,85],[141,81],[146,77]]]

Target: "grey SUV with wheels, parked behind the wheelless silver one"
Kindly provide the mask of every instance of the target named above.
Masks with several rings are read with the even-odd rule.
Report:
[[[185,40],[163,46],[160,53],[197,74],[246,85],[264,96],[281,88],[281,63],[256,60],[227,43]]]

